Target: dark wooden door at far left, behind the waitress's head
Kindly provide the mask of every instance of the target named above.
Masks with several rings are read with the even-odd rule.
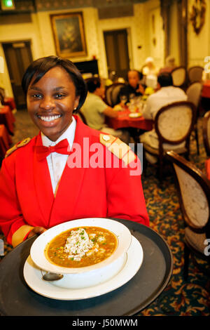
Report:
[[[3,44],[3,51],[10,75],[16,107],[18,110],[26,109],[26,99],[22,91],[22,76],[32,62],[30,41],[15,41]]]

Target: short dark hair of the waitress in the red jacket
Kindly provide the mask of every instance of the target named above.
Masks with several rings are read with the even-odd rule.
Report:
[[[76,110],[80,109],[87,96],[87,86],[77,67],[71,62],[71,60],[67,60],[66,58],[59,58],[58,56],[52,55],[34,60],[34,62],[27,67],[27,70],[22,77],[22,89],[25,95],[27,95],[32,78],[35,77],[34,84],[36,84],[46,72],[52,69],[52,67],[62,67],[68,72],[76,88],[76,96],[80,96]]]

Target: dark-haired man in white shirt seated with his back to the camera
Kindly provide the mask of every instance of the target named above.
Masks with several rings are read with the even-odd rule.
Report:
[[[174,102],[186,101],[186,93],[179,87],[173,86],[172,75],[168,73],[162,73],[158,77],[158,91],[150,96],[146,101],[146,107],[142,111],[143,117],[145,119],[155,119],[155,115],[161,107]],[[155,132],[155,128],[152,131],[148,131],[140,136],[141,143],[146,143],[151,147],[158,149],[158,136]],[[181,145],[170,145],[171,149],[176,150],[176,148],[182,147]],[[165,147],[167,145],[165,144]],[[156,157],[151,156],[146,153],[146,158],[151,163],[157,161]]]

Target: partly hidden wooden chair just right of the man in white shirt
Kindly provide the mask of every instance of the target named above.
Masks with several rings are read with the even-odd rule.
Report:
[[[198,128],[197,128],[197,121],[199,117],[199,105],[202,95],[202,83],[200,81],[195,81],[193,84],[190,84],[186,90],[186,94],[188,96],[188,101],[192,102],[196,107],[196,118],[195,118],[195,126],[193,131],[195,132],[195,140],[197,145],[197,154],[200,154],[199,148],[199,140],[198,140]]]

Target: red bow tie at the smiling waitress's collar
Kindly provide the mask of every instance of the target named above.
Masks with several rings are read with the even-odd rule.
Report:
[[[51,152],[57,152],[59,154],[70,154],[70,150],[68,151],[68,148],[69,148],[69,142],[66,138],[60,141],[59,143],[57,143],[57,145],[52,145],[52,147],[36,145],[37,159],[39,161],[45,159],[46,157],[48,157],[48,154],[51,154]]]

